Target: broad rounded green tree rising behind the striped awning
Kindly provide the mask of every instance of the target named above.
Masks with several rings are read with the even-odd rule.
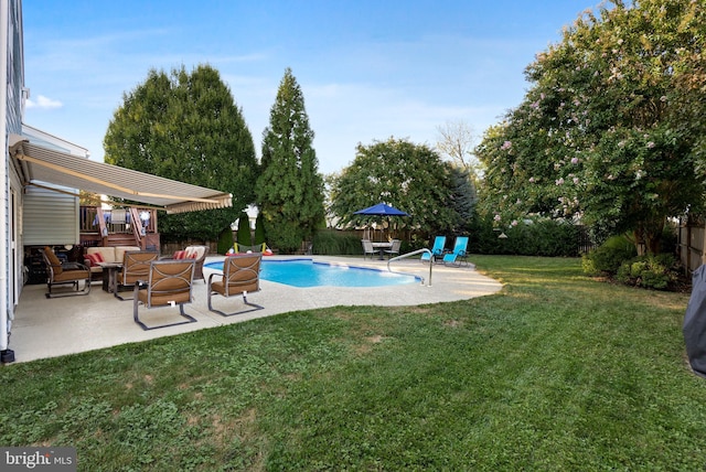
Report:
[[[233,207],[160,215],[165,240],[216,240],[255,201],[253,136],[218,72],[150,71],[124,94],[104,139],[106,162],[233,194]]]

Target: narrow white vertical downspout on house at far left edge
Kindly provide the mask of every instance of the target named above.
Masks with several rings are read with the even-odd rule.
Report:
[[[6,357],[9,344],[10,324],[8,320],[8,32],[10,8],[8,0],[0,0],[0,353]]]

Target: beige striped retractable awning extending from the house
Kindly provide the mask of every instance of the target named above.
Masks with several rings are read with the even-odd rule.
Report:
[[[197,185],[151,175],[131,169],[92,161],[78,155],[10,137],[23,184],[50,183],[162,207],[167,213],[233,206],[233,195]]]

